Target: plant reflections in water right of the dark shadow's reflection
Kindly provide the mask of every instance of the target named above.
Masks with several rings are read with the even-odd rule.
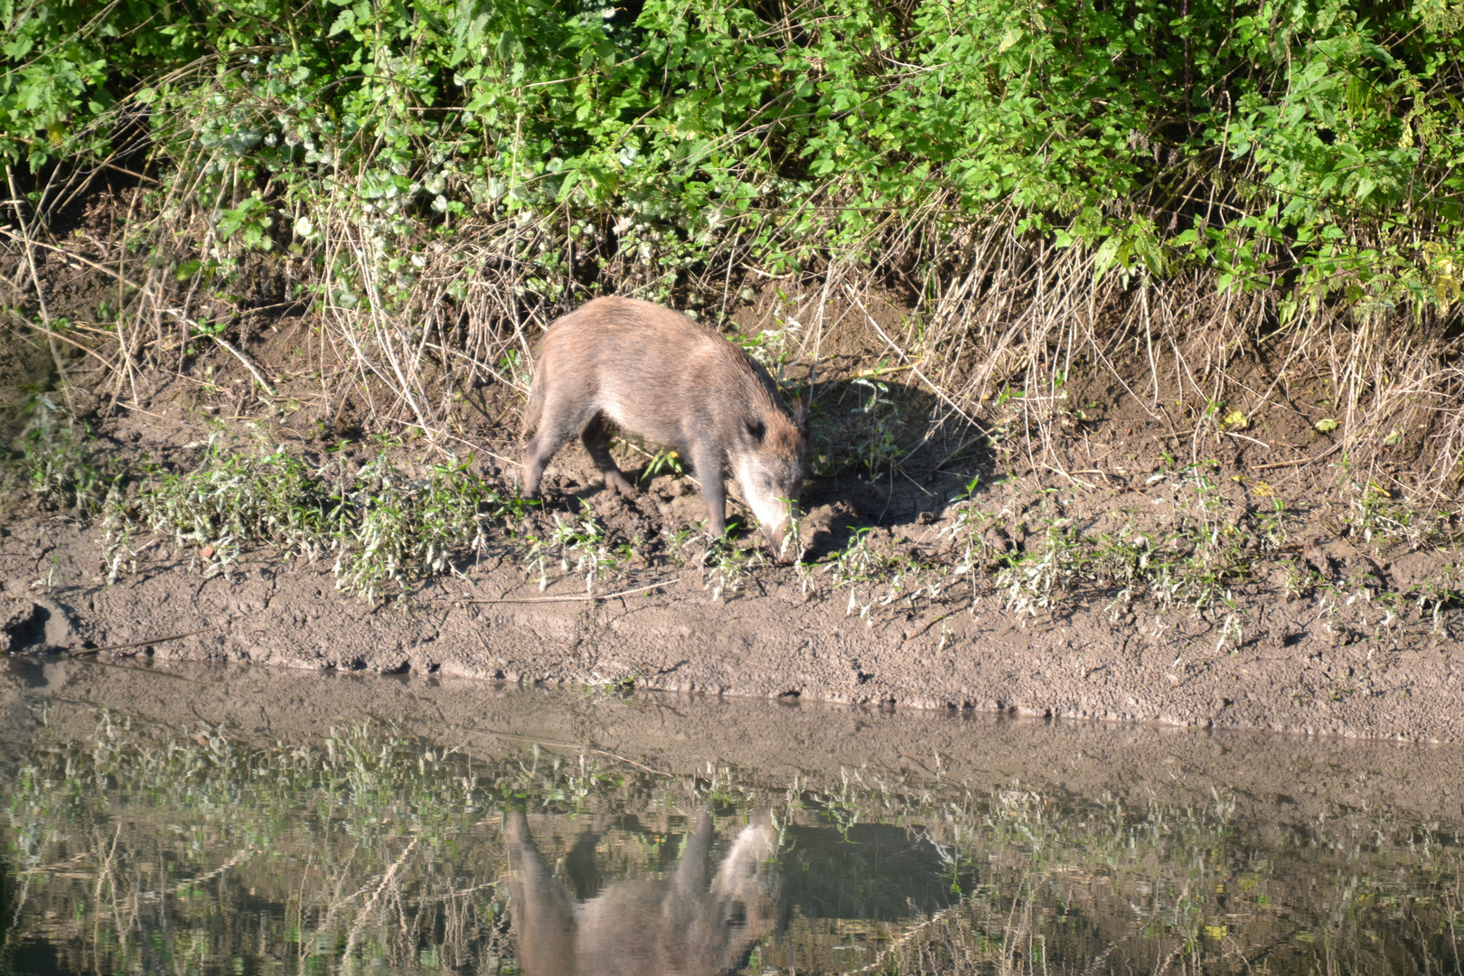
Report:
[[[1452,834],[1369,817],[1268,828],[1220,793],[1063,815],[1004,790],[976,819],[975,884],[892,932],[887,972],[1460,972]]]

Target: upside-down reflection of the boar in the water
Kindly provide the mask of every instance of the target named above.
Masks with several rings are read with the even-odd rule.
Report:
[[[529,821],[508,815],[509,913],[524,976],[720,976],[782,917],[776,834],[752,818],[706,881],[712,818],[701,814],[669,876],[618,881],[574,900],[545,863]]]

